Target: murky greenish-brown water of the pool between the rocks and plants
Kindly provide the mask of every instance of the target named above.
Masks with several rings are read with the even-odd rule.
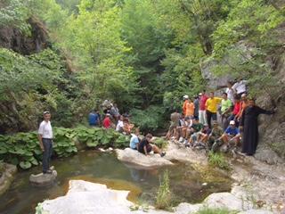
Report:
[[[117,160],[114,153],[94,151],[79,152],[73,157],[53,160],[58,172],[57,182],[49,187],[33,187],[28,183],[30,174],[37,174],[41,168],[34,168],[17,174],[10,190],[0,197],[1,214],[35,213],[38,202],[64,195],[68,182],[72,178],[94,181],[114,181],[123,188],[141,189],[138,201],[153,203],[159,187],[159,177],[164,170],[169,171],[170,188],[174,202],[201,202],[210,193],[229,191],[231,180],[218,175],[216,181],[207,178],[191,168],[190,165],[176,163],[175,166],[162,169],[134,169]],[[215,176],[216,177],[216,176]],[[208,182],[208,185],[202,185]],[[114,187],[116,188],[116,187]]]

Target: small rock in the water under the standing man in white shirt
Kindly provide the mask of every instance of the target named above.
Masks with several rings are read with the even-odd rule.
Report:
[[[53,170],[52,174],[39,173],[37,175],[34,174],[30,175],[29,182],[32,185],[36,186],[52,185],[56,177],[57,177],[57,172],[56,170]]]

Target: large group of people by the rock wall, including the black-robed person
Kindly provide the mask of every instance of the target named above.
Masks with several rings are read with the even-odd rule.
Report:
[[[221,145],[226,151],[233,147],[253,155],[258,144],[259,114],[273,114],[256,106],[255,99],[248,97],[246,81],[228,82],[222,96],[214,92],[199,93],[193,100],[183,96],[183,112],[177,110],[170,116],[171,124],[167,139],[175,139],[185,146],[206,148],[216,152]],[[219,115],[219,119],[217,117]]]

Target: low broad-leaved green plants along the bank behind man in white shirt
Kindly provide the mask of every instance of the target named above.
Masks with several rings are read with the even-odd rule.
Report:
[[[123,136],[113,129],[102,128],[54,128],[53,150],[58,157],[69,157],[77,152],[76,143],[87,147],[125,147],[129,136]],[[0,160],[19,165],[21,169],[36,166],[42,160],[36,132],[0,136]]]

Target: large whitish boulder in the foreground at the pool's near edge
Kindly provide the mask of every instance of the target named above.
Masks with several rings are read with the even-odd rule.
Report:
[[[126,200],[129,191],[111,190],[106,185],[83,180],[70,180],[69,192],[62,197],[41,204],[42,212],[49,214],[142,214],[142,210],[130,210],[133,202]],[[79,200],[78,200],[79,199]],[[149,213],[169,214],[151,210]]]

